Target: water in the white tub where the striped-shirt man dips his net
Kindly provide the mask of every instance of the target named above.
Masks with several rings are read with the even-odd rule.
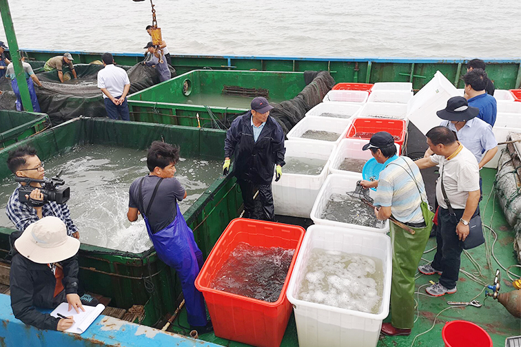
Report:
[[[373,208],[347,194],[331,194],[320,218],[371,228],[385,227],[384,221],[376,219]]]

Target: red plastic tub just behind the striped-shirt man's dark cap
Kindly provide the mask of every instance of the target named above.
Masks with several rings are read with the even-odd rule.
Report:
[[[400,153],[405,143],[405,135],[407,134],[407,125],[402,119],[387,118],[355,118],[353,124],[349,127],[345,137],[347,138],[371,138],[377,132],[388,132],[392,136],[396,136],[395,143],[400,145]],[[364,133],[362,136],[356,134]]]

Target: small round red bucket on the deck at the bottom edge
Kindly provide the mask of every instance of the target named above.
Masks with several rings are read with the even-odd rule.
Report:
[[[490,335],[480,326],[467,321],[452,321],[442,329],[445,347],[492,347]]]

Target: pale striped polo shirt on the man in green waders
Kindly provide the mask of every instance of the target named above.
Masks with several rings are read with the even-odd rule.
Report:
[[[380,172],[378,179],[374,204],[391,207],[391,213],[400,222],[423,222],[420,203],[422,200],[427,202],[427,193],[420,169],[410,158],[405,156],[397,156],[395,160],[386,162],[385,165],[387,167]],[[416,179],[420,191],[409,175]]]

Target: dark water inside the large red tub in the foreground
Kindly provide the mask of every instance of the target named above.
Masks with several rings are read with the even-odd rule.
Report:
[[[215,275],[210,288],[276,302],[294,253],[294,249],[250,246],[240,242]]]

